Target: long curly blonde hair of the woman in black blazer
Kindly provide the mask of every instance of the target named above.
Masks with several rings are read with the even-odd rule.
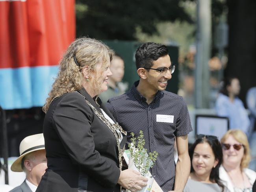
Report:
[[[106,70],[106,64],[112,60],[114,55],[106,44],[96,39],[81,37],[73,41],[60,61],[58,76],[56,77],[52,90],[49,92],[49,97],[43,106],[43,111],[48,111],[49,105],[54,98],[61,96],[64,93],[82,89],[84,77],[82,69],[88,66],[89,72],[94,74],[90,79],[91,90],[100,91],[100,77]],[[74,58],[75,57],[75,58]],[[78,63],[78,66],[75,62]],[[96,71],[97,64],[102,63],[101,71]]]

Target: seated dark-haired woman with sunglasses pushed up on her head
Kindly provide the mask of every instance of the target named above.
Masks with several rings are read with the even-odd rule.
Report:
[[[217,137],[197,135],[197,140],[189,148],[191,172],[184,192],[223,192],[224,185],[219,179],[222,163],[221,144]]]

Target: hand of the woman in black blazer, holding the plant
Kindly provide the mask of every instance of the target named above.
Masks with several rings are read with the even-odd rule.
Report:
[[[139,174],[139,172],[131,169],[121,171],[118,184],[122,187],[136,192],[147,186],[148,179]]]

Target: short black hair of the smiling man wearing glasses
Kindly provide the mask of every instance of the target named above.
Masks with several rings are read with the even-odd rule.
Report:
[[[168,49],[165,45],[154,42],[143,43],[136,50],[136,68],[151,68],[153,61],[156,61],[159,57],[163,57],[165,55],[168,55]]]

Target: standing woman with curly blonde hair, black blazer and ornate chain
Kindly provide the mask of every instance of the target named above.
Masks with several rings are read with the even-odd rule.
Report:
[[[135,192],[147,178],[122,171],[126,132],[102,105],[114,52],[90,38],[72,42],[43,107],[47,166],[37,192]]]

